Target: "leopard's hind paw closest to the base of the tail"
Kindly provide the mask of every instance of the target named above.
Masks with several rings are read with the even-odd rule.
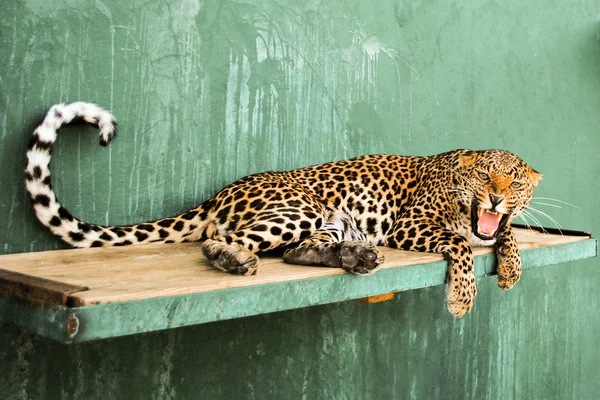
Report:
[[[256,275],[258,272],[258,257],[239,244],[208,239],[202,244],[202,254],[221,271],[235,275]]]

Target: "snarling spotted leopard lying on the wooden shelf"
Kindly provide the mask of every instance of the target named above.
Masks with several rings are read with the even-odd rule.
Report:
[[[370,275],[378,246],[442,254],[446,306],[463,317],[477,295],[473,248],[497,257],[498,286],[512,288],[522,266],[511,221],[525,210],[542,174],[506,150],[458,149],[429,156],[374,154],[289,171],[245,176],[196,208],[134,225],[74,217],[57,200],[50,159],[58,130],[84,122],[100,145],[117,133],[111,112],[86,102],[52,106],[27,150],[26,190],[37,219],[72,247],[201,242],[215,268],[256,274],[273,250],[287,263]]]

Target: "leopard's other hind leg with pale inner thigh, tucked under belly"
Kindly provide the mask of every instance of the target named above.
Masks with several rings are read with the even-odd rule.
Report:
[[[290,264],[343,268],[357,274],[375,272],[384,257],[366,241],[349,215],[337,211],[298,247],[286,250],[283,260]]]

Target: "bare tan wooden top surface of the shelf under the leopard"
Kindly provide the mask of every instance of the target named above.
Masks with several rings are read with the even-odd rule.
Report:
[[[521,249],[585,240],[581,236],[548,235],[515,230]],[[382,269],[442,261],[439,254],[382,247]],[[489,254],[476,248],[475,254]],[[345,274],[341,269],[285,264],[261,257],[259,274],[232,276],[214,269],[201,254],[199,243],[60,250],[0,257],[0,268],[77,288],[73,305],[85,306],[245,286],[266,285]]]

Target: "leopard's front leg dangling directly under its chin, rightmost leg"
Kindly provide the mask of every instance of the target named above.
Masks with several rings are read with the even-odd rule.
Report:
[[[522,272],[517,239],[508,225],[498,233],[496,257],[498,258],[498,286],[502,290],[508,290],[521,278]]]

